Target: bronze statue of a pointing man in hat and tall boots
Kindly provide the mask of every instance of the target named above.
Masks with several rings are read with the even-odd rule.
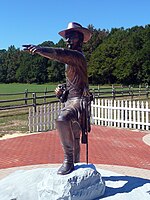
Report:
[[[65,175],[74,169],[74,163],[80,161],[80,130],[82,121],[82,97],[88,93],[87,63],[82,53],[83,42],[87,42],[92,34],[76,22],[68,24],[66,30],[59,34],[65,38],[67,49],[24,45],[26,51],[65,63],[66,88],[65,107],[56,120],[60,141],[64,151],[64,162],[58,174]],[[62,97],[62,88],[55,90]]]

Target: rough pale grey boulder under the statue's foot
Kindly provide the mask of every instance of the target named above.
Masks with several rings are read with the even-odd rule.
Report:
[[[103,195],[104,190],[100,173],[84,165],[76,166],[72,173],[65,176],[53,176],[50,171],[38,185],[39,195],[44,198],[46,196],[45,199],[53,196],[54,199],[93,200]]]

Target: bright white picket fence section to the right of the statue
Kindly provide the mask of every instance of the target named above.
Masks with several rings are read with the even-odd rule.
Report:
[[[92,119],[96,125],[150,130],[150,109],[143,101],[95,99]]]

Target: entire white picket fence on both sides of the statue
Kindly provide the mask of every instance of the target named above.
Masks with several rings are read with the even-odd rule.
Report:
[[[60,102],[29,109],[29,131],[40,132],[55,129]],[[91,122],[95,125],[150,130],[148,102],[129,100],[95,99],[91,105]]]

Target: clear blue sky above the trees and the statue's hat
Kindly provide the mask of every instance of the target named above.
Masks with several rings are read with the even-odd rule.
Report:
[[[75,21],[108,29],[150,24],[150,0],[5,0],[0,3],[0,49],[57,43]]]

